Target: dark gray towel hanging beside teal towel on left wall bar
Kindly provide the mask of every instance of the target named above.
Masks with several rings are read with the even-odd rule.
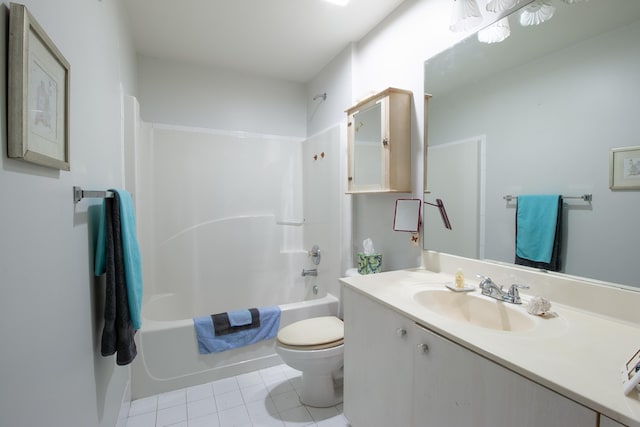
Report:
[[[135,330],[129,318],[129,302],[122,255],[120,232],[120,202],[118,195],[107,198],[106,218],[106,296],[104,307],[104,329],[102,331],[102,355],[117,352],[116,363],[127,365],[136,357]]]

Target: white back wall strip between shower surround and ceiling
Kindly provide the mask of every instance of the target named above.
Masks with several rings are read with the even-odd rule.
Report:
[[[306,93],[294,82],[138,57],[140,113],[162,123],[265,135],[307,135]]]

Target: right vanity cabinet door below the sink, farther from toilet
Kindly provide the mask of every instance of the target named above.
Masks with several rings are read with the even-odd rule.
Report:
[[[597,425],[594,411],[419,325],[413,331],[413,426]]]

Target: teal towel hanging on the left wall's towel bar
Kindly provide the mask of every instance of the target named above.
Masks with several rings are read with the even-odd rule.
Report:
[[[136,238],[136,219],[131,194],[125,190],[110,189],[118,193],[120,199],[120,221],[122,234],[122,253],[124,258],[127,298],[129,300],[129,317],[135,330],[140,329],[142,309],[142,265],[140,248]],[[105,272],[106,223],[105,203],[100,212],[100,226],[96,243],[94,274],[100,276]]]

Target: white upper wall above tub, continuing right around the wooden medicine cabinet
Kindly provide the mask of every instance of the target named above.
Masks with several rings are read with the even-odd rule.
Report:
[[[139,57],[141,115],[153,123],[274,135],[310,136],[346,120],[358,99],[396,86],[412,90],[413,193],[351,196],[354,238],[365,237],[385,254],[384,270],[420,264],[420,247],[392,231],[397,197],[422,197],[423,63],[465,34],[448,30],[449,0],[407,0],[363,40],[340,52],[306,87],[238,76],[225,70]],[[313,101],[327,93],[327,100]],[[302,115],[302,117],[301,117]]]

